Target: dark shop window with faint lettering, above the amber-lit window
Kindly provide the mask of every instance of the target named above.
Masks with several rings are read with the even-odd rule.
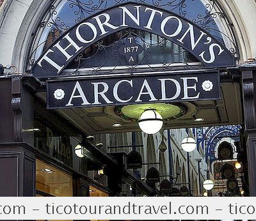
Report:
[[[38,128],[34,133],[35,148],[79,171],[80,158],[74,154],[74,149],[81,143],[81,135],[59,114],[47,111],[41,100],[36,99],[34,107],[34,125]]]

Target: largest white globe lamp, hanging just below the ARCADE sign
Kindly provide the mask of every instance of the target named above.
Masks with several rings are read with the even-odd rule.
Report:
[[[148,109],[141,114],[139,126],[144,133],[154,134],[161,130],[163,126],[163,118],[156,110]]]

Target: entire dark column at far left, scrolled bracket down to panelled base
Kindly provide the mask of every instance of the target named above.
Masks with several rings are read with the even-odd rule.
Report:
[[[19,77],[0,80],[0,197],[35,196],[33,96]]]

